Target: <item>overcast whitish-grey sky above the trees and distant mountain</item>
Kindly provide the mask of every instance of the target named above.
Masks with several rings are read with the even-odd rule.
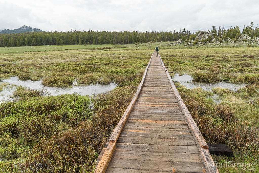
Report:
[[[259,23],[258,0],[0,0],[0,30],[197,31]]]

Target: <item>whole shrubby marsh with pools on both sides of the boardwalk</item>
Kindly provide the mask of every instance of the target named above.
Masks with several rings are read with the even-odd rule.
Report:
[[[133,98],[153,48],[160,45],[161,58],[179,81],[179,94],[206,142],[228,144],[234,152],[213,159],[256,163],[251,170],[219,171],[258,172],[258,46],[142,45],[52,46],[47,51],[43,46],[0,47],[0,92],[12,95],[0,103],[0,169],[90,172]],[[87,93],[89,86],[106,90]]]

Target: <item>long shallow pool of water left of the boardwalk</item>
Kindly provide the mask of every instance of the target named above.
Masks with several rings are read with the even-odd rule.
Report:
[[[0,102],[12,100],[10,96],[15,91],[16,86],[23,86],[28,87],[31,89],[46,89],[48,91],[48,94],[50,95],[59,95],[59,94],[66,94],[66,93],[77,93],[80,95],[92,95],[92,94],[101,94],[105,93],[107,91],[111,91],[115,87],[117,87],[117,84],[114,82],[108,84],[108,85],[88,85],[88,86],[75,86],[75,84],[72,85],[71,88],[56,88],[56,87],[44,87],[41,84],[41,81],[20,81],[17,77],[11,77],[10,79],[5,79],[1,83],[8,83],[9,87],[4,87],[3,91],[0,92]]]

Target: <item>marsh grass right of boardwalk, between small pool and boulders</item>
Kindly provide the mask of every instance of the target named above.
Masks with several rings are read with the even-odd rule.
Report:
[[[161,49],[160,53],[170,71],[188,73],[196,81],[216,83],[224,80],[237,84],[259,84],[259,54],[253,47]]]

